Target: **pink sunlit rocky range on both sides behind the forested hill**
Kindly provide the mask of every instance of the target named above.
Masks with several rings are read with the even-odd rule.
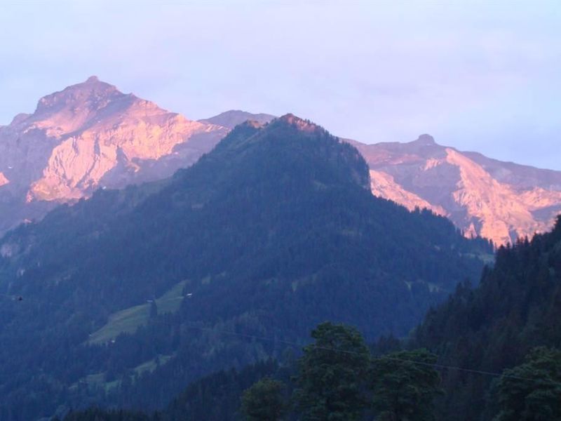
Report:
[[[271,121],[239,110],[191,121],[91,76],[41,98],[0,126],[0,233],[39,220],[95,189],[161,180],[210,152],[237,124]],[[561,211],[561,172],[436,144],[348,140],[370,166],[372,193],[450,218],[497,245],[544,232]]]

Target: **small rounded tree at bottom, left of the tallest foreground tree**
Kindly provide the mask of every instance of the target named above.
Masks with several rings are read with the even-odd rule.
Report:
[[[288,412],[285,384],[270,377],[255,382],[243,392],[241,413],[248,421],[278,421]]]

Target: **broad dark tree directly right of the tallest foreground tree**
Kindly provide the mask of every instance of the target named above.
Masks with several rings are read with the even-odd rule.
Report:
[[[377,420],[433,420],[433,400],[442,393],[437,357],[425,349],[393,352],[372,360],[370,370]]]

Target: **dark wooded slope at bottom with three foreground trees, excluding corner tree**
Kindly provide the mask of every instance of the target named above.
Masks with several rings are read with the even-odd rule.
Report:
[[[65,421],[89,421],[92,414],[100,421],[433,419],[432,403],[440,393],[435,355],[417,349],[374,356],[356,328],[330,322],[320,323],[311,336],[297,361],[215,373],[189,385],[161,412],[90,408]]]

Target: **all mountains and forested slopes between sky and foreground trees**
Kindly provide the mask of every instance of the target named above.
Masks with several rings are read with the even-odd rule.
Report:
[[[561,210],[559,172],[292,114],[189,121],[95,77],[1,127],[0,151],[1,420],[164,408],[191,382],[182,410],[205,375],[290,366],[325,320],[375,340],[436,308],[412,342],[487,372],[559,345],[560,221],[515,241]],[[515,246],[483,269],[480,235]],[[444,419],[485,410],[488,381],[444,378]]]

